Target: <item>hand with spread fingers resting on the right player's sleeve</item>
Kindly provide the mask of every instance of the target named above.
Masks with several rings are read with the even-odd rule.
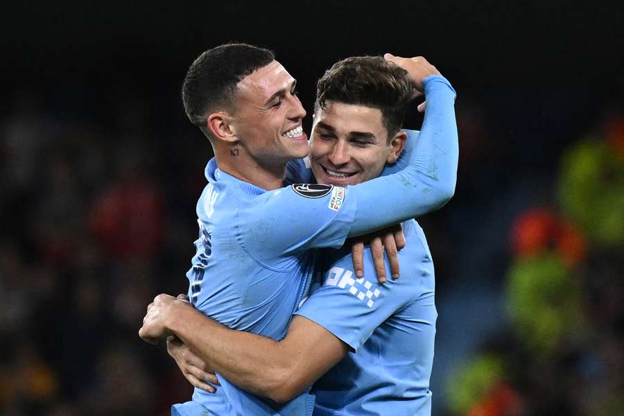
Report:
[[[401,224],[393,225],[385,229],[381,229],[373,234],[361,236],[352,245],[353,267],[357,277],[364,276],[364,245],[370,243],[370,251],[372,254],[373,264],[379,283],[385,283],[388,279],[385,276],[385,257],[383,251],[385,249],[390,261],[390,272],[393,279],[398,279],[401,274],[399,270],[399,250],[405,247],[405,235]]]

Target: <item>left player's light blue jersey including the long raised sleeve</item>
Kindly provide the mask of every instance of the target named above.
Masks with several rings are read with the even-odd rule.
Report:
[[[197,205],[200,237],[187,273],[193,305],[231,329],[280,340],[309,290],[312,249],[340,248],[349,236],[442,206],[456,183],[455,91],[441,76],[426,78],[424,88],[423,127],[399,173],[346,189],[293,184],[266,191],[220,171],[212,159],[206,167],[209,184]],[[289,166],[288,177],[306,175],[301,162]],[[201,408],[219,416],[312,413],[307,393],[277,405],[219,378],[216,393],[196,389],[193,402],[173,406],[172,413],[201,415]]]

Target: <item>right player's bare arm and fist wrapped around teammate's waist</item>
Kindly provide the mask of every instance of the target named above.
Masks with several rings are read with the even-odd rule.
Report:
[[[228,329],[188,302],[159,295],[148,306],[139,335],[148,342],[175,335],[219,374],[277,402],[293,399],[349,351],[327,329],[295,316],[284,340]]]

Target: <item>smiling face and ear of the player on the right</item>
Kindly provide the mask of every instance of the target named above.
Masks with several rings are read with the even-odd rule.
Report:
[[[388,141],[377,108],[327,101],[314,115],[312,171],[318,183],[340,187],[373,179],[397,161],[405,137],[399,132]]]

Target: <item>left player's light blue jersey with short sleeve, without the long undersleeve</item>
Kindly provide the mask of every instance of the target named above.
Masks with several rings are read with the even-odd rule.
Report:
[[[334,210],[328,208],[331,187],[265,191],[220,171],[215,159],[206,176],[210,183],[197,206],[200,238],[187,273],[191,303],[229,328],[284,338],[295,307],[308,292],[315,259],[315,250],[309,249],[343,245],[355,200],[343,198]],[[313,214],[302,220],[305,211]],[[267,236],[268,228],[286,226],[289,232]],[[306,415],[313,408],[310,395],[284,406],[222,377],[220,383],[215,394],[196,389],[193,401],[215,415]]]

